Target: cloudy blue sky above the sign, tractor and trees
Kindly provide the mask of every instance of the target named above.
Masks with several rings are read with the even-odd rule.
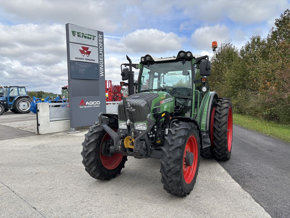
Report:
[[[0,0],[0,85],[60,93],[67,85],[65,24],[103,31],[106,79],[118,84],[126,55],[137,63],[178,51],[212,55],[266,37],[289,0]]]

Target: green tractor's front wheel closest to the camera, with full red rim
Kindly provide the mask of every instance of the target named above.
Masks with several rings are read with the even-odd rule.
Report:
[[[186,196],[198,174],[200,137],[193,123],[177,122],[171,127],[162,147],[161,182],[168,193]]]

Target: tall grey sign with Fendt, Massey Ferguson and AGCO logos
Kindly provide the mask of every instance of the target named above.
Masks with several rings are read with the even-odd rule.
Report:
[[[104,33],[66,24],[70,127],[93,125],[106,112]]]

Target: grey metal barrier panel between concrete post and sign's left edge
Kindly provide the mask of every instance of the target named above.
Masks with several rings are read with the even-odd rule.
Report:
[[[69,103],[49,103],[49,121],[70,119]],[[61,106],[66,105],[66,106]]]

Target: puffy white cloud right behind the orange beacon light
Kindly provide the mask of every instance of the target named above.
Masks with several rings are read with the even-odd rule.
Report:
[[[197,28],[191,35],[191,39],[196,49],[211,48],[213,41],[217,41],[218,45],[231,41],[229,28],[224,24]]]

